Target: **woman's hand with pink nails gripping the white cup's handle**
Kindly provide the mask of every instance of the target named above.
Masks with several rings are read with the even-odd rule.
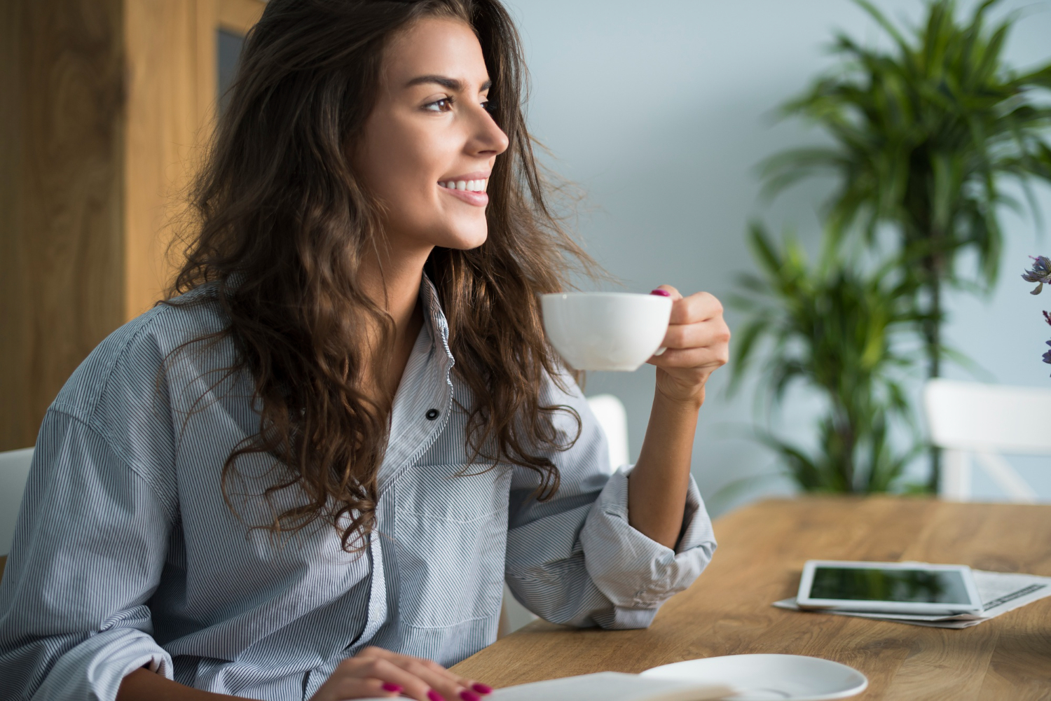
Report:
[[[647,363],[657,366],[657,391],[673,401],[700,407],[708,376],[729,359],[729,327],[722,304],[707,292],[688,297],[671,285],[654,291],[672,297],[672,319],[662,344],[667,350]]]

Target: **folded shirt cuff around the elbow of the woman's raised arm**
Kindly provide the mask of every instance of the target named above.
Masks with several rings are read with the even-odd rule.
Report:
[[[675,550],[632,528],[627,522],[631,470],[621,468],[610,477],[588,514],[580,532],[584,566],[617,607],[657,609],[689,586],[712,560],[715,533],[693,476]]]

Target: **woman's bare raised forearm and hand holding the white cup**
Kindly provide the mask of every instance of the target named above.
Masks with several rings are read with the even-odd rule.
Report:
[[[639,460],[627,479],[627,520],[652,540],[674,549],[682,530],[689,461],[704,385],[728,358],[729,329],[722,305],[707,292],[683,297],[662,285],[654,293],[671,296],[672,321],[657,366],[657,389]]]

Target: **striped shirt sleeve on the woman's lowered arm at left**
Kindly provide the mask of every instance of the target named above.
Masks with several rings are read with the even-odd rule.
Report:
[[[171,677],[147,606],[171,518],[99,431],[48,412],[0,583],[0,698],[111,700],[138,667]]]

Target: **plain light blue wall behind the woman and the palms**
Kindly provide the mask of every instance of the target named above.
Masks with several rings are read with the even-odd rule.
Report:
[[[588,199],[579,224],[591,253],[630,291],[661,283],[683,292],[725,297],[750,259],[743,232],[763,215],[811,232],[817,185],[792,190],[772,206],[758,199],[754,167],[817,135],[772,124],[770,111],[830,65],[823,50],[832,30],[877,41],[880,33],[847,0],[508,0],[521,28],[533,77],[530,124],[551,149],[554,167]],[[891,15],[916,18],[916,0],[880,0]],[[1051,5],[1027,8],[1008,51],[1016,65],[1051,58]],[[1051,220],[1051,198],[1042,192]],[[1008,219],[1002,282],[987,302],[955,295],[948,336],[1002,383],[1051,387],[1039,360],[1051,328],[1039,318],[1051,293],[1028,294],[1017,274],[1029,253],[1051,253],[1032,222]],[[729,314],[731,327],[735,316]],[[951,375],[967,376],[950,370]],[[746,475],[776,471],[771,456],[744,437],[751,395],[724,393],[728,373],[712,380],[694,452],[705,497]],[[653,368],[593,373],[588,393],[613,392],[628,408],[634,455],[642,442]],[[806,403],[789,407],[789,432],[806,431]],[[1047,461],[1045,461],[1046,463]],[[1051,470],[1022,466],[1051,499]],[[1051,466],[1049,466],[1051,467]],[[1044,473],[1047,473],[1046,475]],[[785,493],[760,480],[739,497]],[[995,490],[978,479],[976,493]],[[725,506],[723,507],[725,508]]]

